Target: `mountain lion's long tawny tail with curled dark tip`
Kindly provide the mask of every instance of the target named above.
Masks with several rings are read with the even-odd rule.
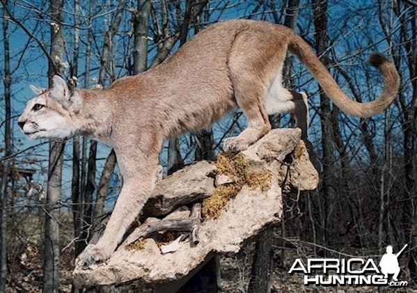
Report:
[[[306,68],[317,79],[324,93],[342,111],[352,116],[367,118],[386,110],[395,100],[400,87],[400,77],[393,63],[388,61],[382,54],[374,53],[370,56],[370,64],[375,66],[384,77],[384,90],[376,100],[371,102],[356,102],[348,97],[331,77],[329,70],[320,62],[313,49],[297,33],[288,29],[290,43],[288,50],[296,54]]]

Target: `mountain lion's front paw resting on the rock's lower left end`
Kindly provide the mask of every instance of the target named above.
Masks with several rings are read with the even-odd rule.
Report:
[[[96,269],[100,263],[108,260],[113,251],[108,247],[97,246],[97,244],[88,244],[84,251],[80,253],[75,260],[75,268]]]

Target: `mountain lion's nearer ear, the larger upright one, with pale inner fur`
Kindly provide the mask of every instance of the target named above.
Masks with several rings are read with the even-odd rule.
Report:
[[[52,81],[51,97],[62,104],[64,109],[68,110],[70,107],[72,110],[77,109],[81,103],[81,97],[74,90],[70,90],[68,84],[62,77],[54,75]]]

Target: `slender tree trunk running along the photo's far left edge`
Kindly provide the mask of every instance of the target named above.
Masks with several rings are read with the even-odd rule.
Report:
[[[7,1],[6,1],[7,5]],[[3,49],[4,49],[4,106],[6,113],[6,121],[4,122],[4,144],[5,157],[12,155],[12,143],[10,136],[10,46],[8,30],[8,13],[3,9]],[[0,189],[0,292],[4,292],[6,288],[7,277],[7,187],[8,175],[10,174],[10,167],[12,159],[3,161],[3,176],[1,178]]]

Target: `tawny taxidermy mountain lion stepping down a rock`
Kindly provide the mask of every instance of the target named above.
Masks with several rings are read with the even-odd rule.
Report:
[[[107,90],[70,88],[58,76],[50,89],[31,86],[38,96],[29,100],[18,121],[26,136],[91,136],[114,148],[123,174],[123,189],[107,228],[97,244],[79,255],[78,265],[107,260],[123,239],[148,199],[164,138],[210,125],[235,106],[242,109],[248,126],[225,141],[225,150],[244,150],[267,134],[272,113],[295,113],[305,136],[306,95],[282,85],[287,51],[299,57],[326,95],[350,115],[380,113],[398,93],[398,73],[381,54],[373,54],[370,63],[384,77],[384,90],[377,100],[355,102],[297,33],[251,20],[213,24],[164,63],[118,79]]]

